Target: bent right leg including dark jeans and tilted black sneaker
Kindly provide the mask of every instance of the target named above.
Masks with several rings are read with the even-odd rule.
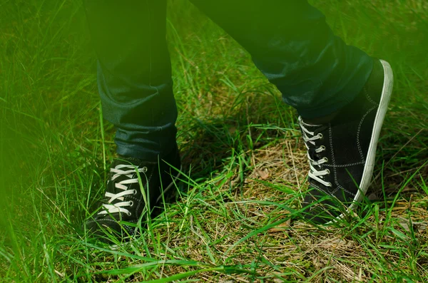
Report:
[[[305,0],[191,0],[253,58],[297,108],[310,163],[302,216],[337,221],[371,182],[392,70],[334,36]]]

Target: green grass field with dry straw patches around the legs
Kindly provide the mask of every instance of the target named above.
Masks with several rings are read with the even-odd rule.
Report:
[[[331,227],[307,189],[295,110],[187,1],[168,39],[185,189],[133,245],[78,230],[114,155],[81,1],[0,0],[1,282],[428,282],[428,2],[312,0],[396,77],[374,182]]]

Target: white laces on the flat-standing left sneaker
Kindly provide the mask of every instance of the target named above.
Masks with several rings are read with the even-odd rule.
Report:
[[[124,165],[120,164],[117,165],[115,168],[111,168],[110,172],[114,173],[113,177],[111,177],[111,181],[116,180],[120,176],[126,176],[128,179],[121,180],[120,182],[116,182],[114,186],[118,188],[119,190],[122,190],[122,192],[118,192],[117,194],[113,194],[111,192],[106,192],[106,197],[110,197],[110,199],[107,201],[107,204],[103,204],[104,210],[101,212],[98,212],[98,215],[106,215],[116,212],[123,212],[126,213],[126,215],[131,216],[131,212],[127,210],[124,207],[130,207],[133,206],[133,201],[126,202],[125,196],[126,195],[136,195],[136,190],[129,190],[128,185],[130,184],[136,184],[138,183],[138,177],[133,178],[133,174],[136,173],[146,173],[147,168],[136,168],[134,165]],[[121,202],[116,202],[115,204],[111,204],[115,200],[121,200]]]

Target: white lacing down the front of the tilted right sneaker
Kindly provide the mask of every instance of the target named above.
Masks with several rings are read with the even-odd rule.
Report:
[[[320,167],[320,165],[327,163],[328,158],[319,158],[319,154],[326,150],[325,145],[317,145],[317,140],[320,140],[323,138],[322,133],[315,134],[315,131],[311,131],[308,128],[310,127],[321,127],[322,125],[310,125],[303,121],[302,117],[299,117],[299,124],[300,128],[302,129],[302,138],[305,141],[306,149],[307,149],[307,158],[309,160],[310,165],[310,171],[309,171],[309,177],[312,180],[315,180],[317,182],[320,182],[322,185],[325,185],[326,187],[331,187],[331,182],[326,182],[325,180],[322,180],[322,177],[325,175],[330,174],[329,169],[325,170],[317,170],[315,166]]]

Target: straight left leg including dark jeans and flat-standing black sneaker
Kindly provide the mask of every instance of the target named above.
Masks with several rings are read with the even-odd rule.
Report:
[[[166,0],[86,0],[85,7],[103,115],[116,125],[119,154],[105,198],[85,227],[104,242],[126,241],[140,231],[136,223],[173,195],[173,168],[180,168]]]

